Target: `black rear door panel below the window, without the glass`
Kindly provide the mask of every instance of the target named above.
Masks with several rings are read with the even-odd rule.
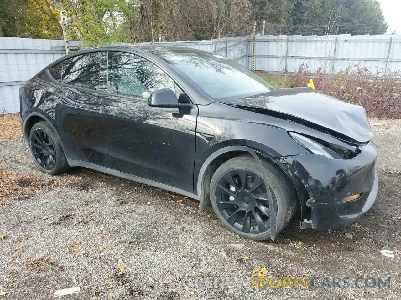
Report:
[[[43,112],[59,133],[71,159],[106,166],[101,92],[50,83]]]

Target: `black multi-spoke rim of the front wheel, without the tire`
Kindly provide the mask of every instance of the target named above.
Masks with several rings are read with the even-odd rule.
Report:
[[[276,202],[275,195],[269,192]],[[215,189],[217,208],[233,228],[245,234],[260,234],[270,228],[270,207],[261,176],[242,168],[221,175]],[[277,206],[274,208],[277,213]]]

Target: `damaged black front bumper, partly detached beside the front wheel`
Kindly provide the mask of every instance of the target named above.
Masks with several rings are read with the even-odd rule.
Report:
[[[302,228],[346,226],[373,206],[378,186],[377,147],[369,142],[360,150],[352,159],[330,159],[317,154],[282,159],[287,163],[287,170],[301,180],[308,192],[311,214],[304,218]],[[342,202],[347,196],[356,194],[362,196]]]

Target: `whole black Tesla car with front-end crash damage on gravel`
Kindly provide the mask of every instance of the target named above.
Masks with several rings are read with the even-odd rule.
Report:
[[[236,62],[174,46],[69,54],[20,88],[38,167],[81,166],[212,206],[223,225],[265,240],[353,222],[377,195],[365,109],[304,88],[275,89]]]

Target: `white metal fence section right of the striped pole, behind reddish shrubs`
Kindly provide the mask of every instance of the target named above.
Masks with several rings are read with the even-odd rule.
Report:
[[[255,41],[255,70],[295,72],[301,64],[308,64],[312,72],[322,67],[329,74],[354,64],[383,68],[387,74],[401,70],[401,35],[257,35]]]

